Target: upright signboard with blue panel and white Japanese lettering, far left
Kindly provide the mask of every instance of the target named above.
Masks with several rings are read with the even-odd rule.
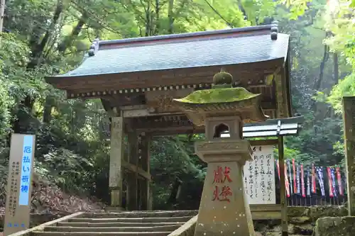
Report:
[[[34,135],[11,135],[9,176],[7,179],[4,235],[30,226]]]

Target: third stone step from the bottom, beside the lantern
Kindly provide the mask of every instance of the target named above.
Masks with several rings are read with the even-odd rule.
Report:
[[[84,223],[84,222],[59,222],[58,226],[65,227],[146,227],[146,226],[181,226],[185,222],[155,222],[155,223],[142,223],[142,222],[112,222],[112,223]]]

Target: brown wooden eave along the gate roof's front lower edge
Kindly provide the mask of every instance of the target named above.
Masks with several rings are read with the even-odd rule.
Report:
[[[235,78],[255,77],[256,74],[270,74],[284,63],[284,59],[252,62],[247,64],[224,65]],[[221,65],[169,69],[155,72],[131,72],[120,74],[93,74],[84,77],[48,77],[46,82],[57,89],[86,93],[99,89],[137,89],[159,86],[211,83]],[[249,76],[248,76],[249,75]]]

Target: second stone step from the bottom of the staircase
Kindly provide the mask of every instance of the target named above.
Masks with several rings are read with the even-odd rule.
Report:
[[[173,232],[180,225],[166,225],[153,227],[45,227],[45,232]]]

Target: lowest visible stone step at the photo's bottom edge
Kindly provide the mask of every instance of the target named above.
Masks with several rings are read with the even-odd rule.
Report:
[[[31,236],[168,236],[170,232],[31,232]]]

